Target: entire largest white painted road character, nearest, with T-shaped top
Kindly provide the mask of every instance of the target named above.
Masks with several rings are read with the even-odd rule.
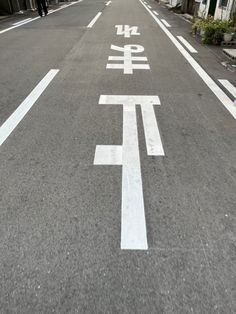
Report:
[[[95,165],[122,165],[121,249],[147,250],[136,105],[141,106],[147,150],[150,155],[163,156],[160,143],[158,149],[155,146],[159,131],[154,130],[158,126],[152,110],[160,100],[158,96],[101,95],[99,104],[123,106],[123,145],[98,145],[94,158]]]

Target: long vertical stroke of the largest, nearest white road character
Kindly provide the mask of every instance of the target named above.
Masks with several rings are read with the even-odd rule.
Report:
[[[135,105],[123,105],[121,249],[148,249]]]

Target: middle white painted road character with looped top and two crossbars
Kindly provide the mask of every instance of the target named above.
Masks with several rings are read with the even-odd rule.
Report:
[[[133,57],[132,54],[141,53],[144,51],[144,47],[140,45],[125,45],[118,47],[111,45],[112,50],[120,51],[124,53],[124,56],[109,56],[110,61],[123,61],[123,63],[108,63],[107,69],[122,69],[124,74],[133,74],[134,69],[149,70],[148,64],[133,63],[133,61],[148,61],[146,57]]]

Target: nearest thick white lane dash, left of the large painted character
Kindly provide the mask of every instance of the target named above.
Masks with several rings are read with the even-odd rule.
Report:
[[[13,114],[3,123],[0,128],[0,146],[12,133],[15,127],[24,118],[27,112],[31,109],[40,95],[47,88],[49,83],[53,80],[59,70],[52,69],[46,76],[38,83],[38,85],[32,90],[29,96],[19,105],[19,107],[13,112]]]

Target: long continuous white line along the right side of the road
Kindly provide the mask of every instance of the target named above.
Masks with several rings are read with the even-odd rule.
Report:
[[[214,80],[207,74],[207,72],[197,63],[197,61],[190,55],[190,53],[180,44],[180,42],[171,34],[171,32],[162,24],[158,17],[156,17],[151,10],[149,10],[141,0],[140,3],[144,8],[150,13],[156,23],[160,26],[163,32],[169,37],[172,43],[184,56],[184,58],[189,62],[201,79],[206,83],[210,90],[216,95],[223,106],[231,113],[231,115],[236,119],[236,106],[233,104],[232,100],[223,92],[223,90],[214,82]]]

